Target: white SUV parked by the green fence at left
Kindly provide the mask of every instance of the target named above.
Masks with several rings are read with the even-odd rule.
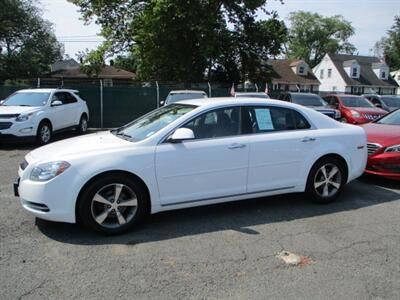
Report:
[[[25,138],[47,144],[56,131],[86,132],[88,120],[88,107],[76,90],[20,90],[0,102],[0,140]]]

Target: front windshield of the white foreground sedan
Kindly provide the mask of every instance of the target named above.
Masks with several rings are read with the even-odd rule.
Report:
[[[196,106],[194,105],[185,104],[163,106],[111,132],[120,138],[138,142],[152,136],[195,108]]]

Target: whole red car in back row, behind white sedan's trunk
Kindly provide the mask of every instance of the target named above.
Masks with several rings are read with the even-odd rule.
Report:
[[[324,100],[332,108],[339,109],[342,114],[340,121],[350,124],[364,124],[376,120],[387,112],[375,107],[366,98],[356,95],[328,95]]]

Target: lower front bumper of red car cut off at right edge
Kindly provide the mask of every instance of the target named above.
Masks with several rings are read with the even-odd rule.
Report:
[[[380,153],[368,157],[365,173],[400,180],[400,154]]]

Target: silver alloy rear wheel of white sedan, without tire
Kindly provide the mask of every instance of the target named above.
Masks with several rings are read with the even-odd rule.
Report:
[[[334,196],[342,184],[342,174],[338,166],[328,163],[323,165],[315,174],[314,189],[322,198]]]

